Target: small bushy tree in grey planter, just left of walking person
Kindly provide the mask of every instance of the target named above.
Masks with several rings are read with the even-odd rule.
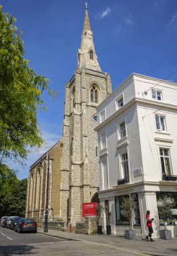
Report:
[[[130,229],[133,229],[133,208],[135,208],[135,201],[131,198],[124,198],[122,200],[121,208],[122,208],[122,215],[126,218],[129,218],[130,222]]]

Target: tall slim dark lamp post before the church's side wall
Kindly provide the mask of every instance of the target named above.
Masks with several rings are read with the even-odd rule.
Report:
[[[44,232],[48,232],[48,183],[49,183],[49,171],[50,171],[50,160],[53,160],[50,158],[49,155],[46,156],[47,160],[47,174],[46,174],[46,210],[45,210],[45,220],[44,220]],[[42,163],[40,162],[40,166],[42,166]]]

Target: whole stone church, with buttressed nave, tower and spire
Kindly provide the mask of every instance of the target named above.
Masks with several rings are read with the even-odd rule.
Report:
[[[77,58],[75,73],[65,85],[63,135],[30,167],[26,217],[38,222],[47,208],[48,220],[75,226],[83,220],[82,203],[98,202],[96,107],[111,94],[112,84],[98,63],[87,5]]]

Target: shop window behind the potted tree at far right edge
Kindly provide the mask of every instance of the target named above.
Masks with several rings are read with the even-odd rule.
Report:
[[[172,218],[170,220],[166,220],[166,225],[177,226],[177,192],[156,192],[157,207],[158,200],[160,199],[160,197],[163,198],[164,196],[171,197],[174,199],[174,205],[172,206]],[[160,225],[164,225],[163,220],[160,220]]]

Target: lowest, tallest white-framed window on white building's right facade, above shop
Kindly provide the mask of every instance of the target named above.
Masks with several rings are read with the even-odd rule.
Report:
[[[170,150],[168,148],[160,148],[160,160],[162,165],[162,174],[172,174],[172,164],[170,159]]]

